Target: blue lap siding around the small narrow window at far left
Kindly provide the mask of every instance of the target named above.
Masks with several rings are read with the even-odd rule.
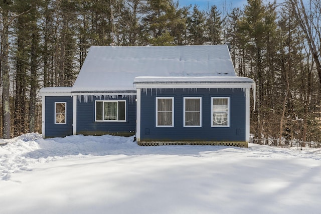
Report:
[[[65,137],[72,135],[73,98],[52,96],[45,98],[45,137]],[[66,102],[66,124],[55,124],[55,102]]]

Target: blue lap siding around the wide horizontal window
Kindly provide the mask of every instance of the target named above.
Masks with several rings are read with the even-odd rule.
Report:
[[[126,100],[126,122],[95,122],[95,100],[93,96],[88,102],[77,100],[77,134],[90,135],[125,135],[135,134],[136,129],[136,101],[135,97],[106,98],[106,100]]]

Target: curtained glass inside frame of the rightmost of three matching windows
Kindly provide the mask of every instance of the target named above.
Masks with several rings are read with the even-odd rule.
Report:
[[[213,99],[213,125],[227,126],[228,100],[226,98]]]

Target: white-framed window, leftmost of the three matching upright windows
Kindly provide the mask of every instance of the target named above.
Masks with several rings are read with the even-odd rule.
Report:
[[[156,126],[174,126],[174,97],[156,97]]]

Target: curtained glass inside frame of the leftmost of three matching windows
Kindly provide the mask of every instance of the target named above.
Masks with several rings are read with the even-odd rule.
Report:
[[[172,126],[172,99],[157,99],[157,125]]]

